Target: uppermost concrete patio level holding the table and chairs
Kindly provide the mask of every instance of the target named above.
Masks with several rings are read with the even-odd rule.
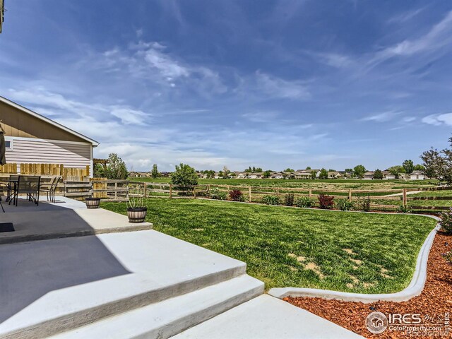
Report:
[[[109,232],[150,230],[150,222],[131,223],[125,215],[102,208],[88,209],[82,201],[62,196],[56,203],[19,199],[18,206],[4,203],[0,222],[13,222],[15,232],[1,232],[0,244],[61,237],[81,237]]]

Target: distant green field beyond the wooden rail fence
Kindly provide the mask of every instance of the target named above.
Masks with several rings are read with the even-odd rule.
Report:
[[[130,178],[132,182],[169,183],[170,178]],[[295,187],[334,191],[335,189],[403,189],[436,186],[436,180],[360,180],[360,179],[199,179],[198,184],[261,187]]]

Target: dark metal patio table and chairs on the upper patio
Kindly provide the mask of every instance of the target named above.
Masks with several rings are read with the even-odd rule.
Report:
[[[40,194],[45,192],[47,201],[55,202],[55,191],[61,179],[60,176],[54,176],[49,183],[42,184],[41,177],[37,175],[10,175],[8,179],[0,179],[0,191],[6,191],[6,202],[15,206],[18,205],[19,194],[25,194],[28,201],[39,205]],[[1,209],[4,211],[3,206]]]

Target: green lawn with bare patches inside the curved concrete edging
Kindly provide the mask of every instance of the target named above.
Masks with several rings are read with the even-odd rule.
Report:
[[[397,292],[436,221],[261,206],[225,201],[148,198],[154,229],[237,258],[271,287]],[[125,203],[102,203],[126,214]],[[152,244],[150,244],[152,246]]]

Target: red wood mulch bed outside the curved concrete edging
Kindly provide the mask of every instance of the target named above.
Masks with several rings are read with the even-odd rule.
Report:
[[[311,297],[287,297],[284,300],[366,338],[410,338],[402,331],[388,331],[388,329],[381,334],[370,333],[366,328],[366,318],[372,311],[381,311],[383,314],[421,314],[422,323],[426,325],[444,323],[444,314],[449,312],[452,326],[452,266],[441,256],[451,250],[452,236],[438,232],[429,254],[424,290],[421,295],[407,302],[363,304]],[[442,321],[438,317],[441,317]],[[452,331],[447,338],[451,337]]]

